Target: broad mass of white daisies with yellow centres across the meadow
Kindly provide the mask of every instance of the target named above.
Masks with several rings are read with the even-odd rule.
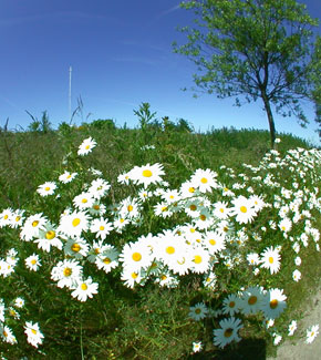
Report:
[[[91,137],[84,140],[77,155],[86,155],[95,145]],[[213,291],[219,290],[218,280],[226,274],[246,268],[247,282],[221,304],[221,313],[230,318],[221,319],[220,328],[214,330],[215,344],[224,347],[240,339],[242,323],[236,313],[263,313],[273,320],[284,310],[282,289],[258,286],[260,276],[267,279],[280,271],[283,249],[296,255],[294,281],[301,277],[300,248],[312,241],[320,250],[320,232],[313,226],[313,212],[321,209],[315,171],[320,154],[297,148],[281,157],[270,151],[258,166],[244,164],[239,174],[226,166],[216,172],[198,168],[178,188],[164,181],[162,164],[134,166],[120,174],[117,182],[136,193],[121,199],[114,198],[116,192],[102,173],[91,168],[95,178],[82,185],[59,214],[59,222],[43,213],[28,215],[7,208],[0,213],[0,228],[12,228],[21,243],[33,245],[24,258],[28,270],[46,265],[50,280],[79,301],[99,292],[97,271],[118,271],[130,288],[147,281],[174,288],[182,277],[196,276]],[[37,193],[62,198],[61,188],[77,176],[65,171],[56,181],[40,185]],[[46,260],[51,251],[54,264],[52,258]],[[14,276],[18,263],[17,251],[9,250],[0,259],[0,276]]]

